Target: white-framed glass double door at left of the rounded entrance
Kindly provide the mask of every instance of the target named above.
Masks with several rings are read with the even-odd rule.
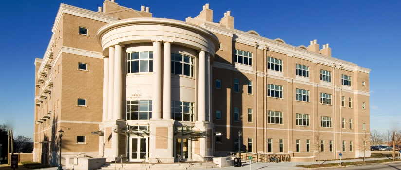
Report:
[[[149,157],[148,155],[148,143],[149,143],[149,138],[131,138],[131,143],[130,143],[130,151],[131,151],[131,159],[129,161],[131,162],[141,162],[142,159],[145,157],[145,160],[147,161],[147,158]]]

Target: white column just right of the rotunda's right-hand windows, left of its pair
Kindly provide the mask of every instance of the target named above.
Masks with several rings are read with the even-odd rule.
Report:
[[[206,55],[200,51],[198,56],[198,121],[206,120]]]

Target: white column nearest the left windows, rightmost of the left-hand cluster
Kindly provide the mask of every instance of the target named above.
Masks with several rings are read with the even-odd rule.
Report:
[[[122,53],[123,48],[121,44],[114,46],[114,90],[113,90],[113,119],[121,119],[122,110],[122,96],[123,96],[123,78],[122,78]]]

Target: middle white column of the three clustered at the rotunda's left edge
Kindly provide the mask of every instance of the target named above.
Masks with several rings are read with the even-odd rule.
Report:
[[[113,118],[113,87],[114,87],[114,47],[109,47],[109,85],[108,85],[108,102],[107,102],[107,119]]]

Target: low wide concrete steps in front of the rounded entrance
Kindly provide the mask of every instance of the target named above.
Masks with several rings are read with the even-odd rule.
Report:
[[[106,163],[102,170],[204,170],[217,168],[213,162],[184,162],[184,163]]]

